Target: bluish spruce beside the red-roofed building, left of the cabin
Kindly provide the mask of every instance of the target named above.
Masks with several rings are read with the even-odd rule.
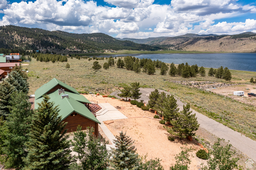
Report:
[[[29,91],[29,84],[26,78],[23,78],[19,72],[12,70],[6,79],[12,86],[15,87],[17,91],[22,91],[24,93],[28,93]]]

